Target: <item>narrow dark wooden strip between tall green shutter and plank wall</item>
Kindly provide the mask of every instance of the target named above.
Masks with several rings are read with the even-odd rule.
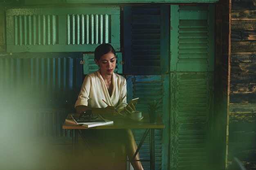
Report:
[[[216,5],[213,170],[226,167],[229,94],[229,0]]]

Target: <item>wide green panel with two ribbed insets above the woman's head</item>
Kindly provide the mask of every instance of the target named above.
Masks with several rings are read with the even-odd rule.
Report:
[[[7,52],[120,50],[119,7],[7,9]]]

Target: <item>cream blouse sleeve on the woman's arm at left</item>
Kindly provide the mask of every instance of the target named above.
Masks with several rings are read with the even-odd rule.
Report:
[[[85,76],[85,79],[81,86],[81,91],[79,92],[79,96],[75,103],[75,107],[80,105],[88,106],[88,99],[89,99],[91,84],[92,84],[91,76],[90,75]]]

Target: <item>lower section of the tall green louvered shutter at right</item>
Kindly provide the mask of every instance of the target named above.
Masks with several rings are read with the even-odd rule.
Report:
[[[213,73],[171,73],[172,168],[207,169],[211,154]]]

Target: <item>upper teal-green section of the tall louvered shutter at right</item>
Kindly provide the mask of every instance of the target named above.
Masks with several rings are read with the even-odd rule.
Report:
[[[213,5],[171,5],[171,71],[213,71],[213,11]]]

